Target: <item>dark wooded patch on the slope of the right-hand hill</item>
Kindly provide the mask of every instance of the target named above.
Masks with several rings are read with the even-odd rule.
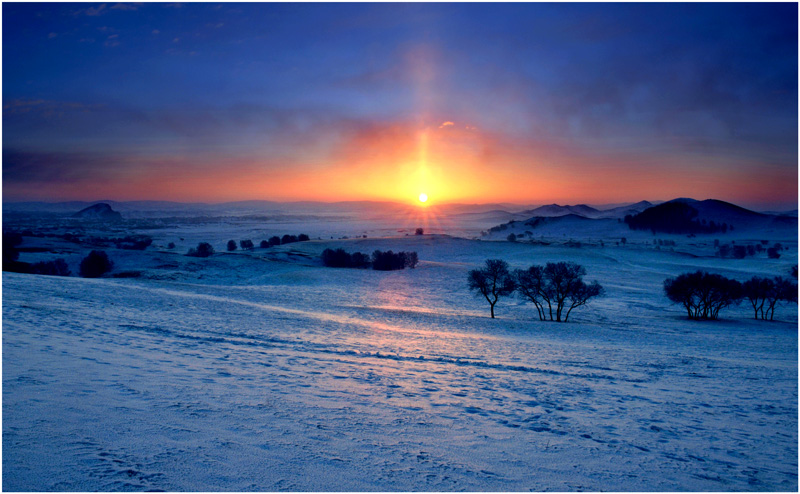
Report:
[[[653,233],[726,233],[733,226],[727,223],[698,220],[697,209],[683,202],[667,202],[639,214],[625,216],[631,230],[650,230]]]

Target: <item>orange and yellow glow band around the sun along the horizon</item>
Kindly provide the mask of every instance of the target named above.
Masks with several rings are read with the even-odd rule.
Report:
[[[375,124],[341,137],[313,158],[137,156],[54,185],[4,182],[6,200],[179,202],[393,201],[418,211],[448,203],[608,204],[675,197],[740,204],[790,203],[797,169],[764,174],[722,157],[602,155],[557,144],[513,141],[458,122],[439,128]],[[464,125],[466,124],[466,125]],[[467,128],[469,127],[469,128]],[[128,164],[122,161],[123,164]],[[133,166],[135,164],[135,166]],[[729,172],[720,176],[725,166]],[[120,166],[120,169],[125,168]],[[691,181],[686,177],[693,177]],[[42,191],[46,191],[43,196]],[[420,201],[420,194],[428,196]],[[795,199],[796,200],[796,199]]]

